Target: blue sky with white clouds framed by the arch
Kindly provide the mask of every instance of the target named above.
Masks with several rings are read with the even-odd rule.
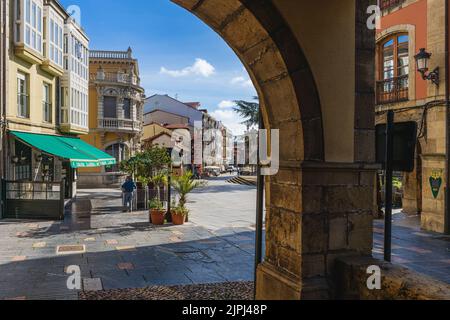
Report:
[[[61,0],[78,5],[91,49],[123,50],[139,59],[146,95],[199,101],[218,120],[241,134],[233,100],[256,91],[241,62],[212,29],[169,0]]]

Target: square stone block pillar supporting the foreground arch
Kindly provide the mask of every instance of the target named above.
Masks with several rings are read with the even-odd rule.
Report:
[[[267,185],[258,299],[329,299],[337,258],[370,255],[376,167],[290,163]]]

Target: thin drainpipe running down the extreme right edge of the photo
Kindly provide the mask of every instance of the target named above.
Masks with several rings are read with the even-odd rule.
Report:
[[[445,0],[445,111],[446,111],[446,188],[444,233],[450,234],[450,61],[449,61],[449,1]]]

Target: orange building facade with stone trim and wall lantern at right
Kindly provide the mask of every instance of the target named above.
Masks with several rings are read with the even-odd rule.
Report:
[[[403,210],[421,215],[425,230],[448,231],[446,218],[446,0],[380,1],[381,28],[376,35],[376,122],[416,121],[415,170],[403,181]],[[439,84],[423,79],[415,56],[431,53],[429,71],[439,68]]]

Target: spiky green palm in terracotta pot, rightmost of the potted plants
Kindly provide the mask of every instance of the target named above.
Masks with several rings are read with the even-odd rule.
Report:
[[[189,210],[186,208],[188,194],[205,185],[206,183],[203,181],[194,180],[191,171],[186,171],[181,176],[172,177],[172,187],[179,196],[178,205],[172,211],[178,213],[178,215],[183,215],[183,222],[189,218]]]

